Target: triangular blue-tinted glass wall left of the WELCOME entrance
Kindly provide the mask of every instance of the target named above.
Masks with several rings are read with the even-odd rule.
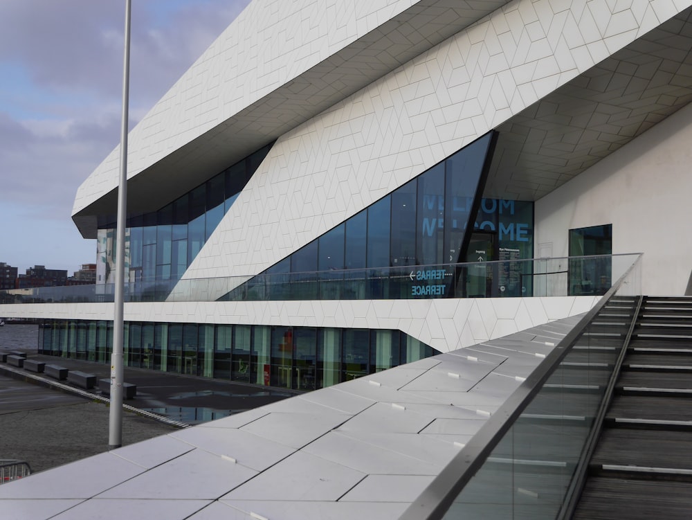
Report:
[[[459,261],[492,143],[478,138],[221,299],[410,298],[410,266]]]

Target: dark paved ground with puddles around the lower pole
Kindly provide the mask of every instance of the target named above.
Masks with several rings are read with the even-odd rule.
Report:
[[[26,353],[30,359],[109,377],[110,367],[103,364],[39,355],[30,349]],[[125,382],[137,385],[137,395],[123,404],[186,424],[221,418],[293,395],[137,368],[125,368]],[[57,388],[55,383],[50,377],[0,363],[0,458],[25,460],[32,472],[38,472],[108,450],[109,407],[95,400],[100,395],[98,389],[92,391],[94,397],[90,399]],[[176,426],[133,411],[122,413],[123,446],[174,429]]]

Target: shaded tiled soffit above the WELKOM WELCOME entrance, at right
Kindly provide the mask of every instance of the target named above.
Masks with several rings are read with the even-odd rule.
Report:
[[[538,200],[692,101],[692,8],[497,127],[486,197]]]

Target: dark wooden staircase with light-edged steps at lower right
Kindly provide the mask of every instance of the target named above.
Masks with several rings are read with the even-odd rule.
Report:
[[[644,298],[572,518],[692,519],[692,298]]]

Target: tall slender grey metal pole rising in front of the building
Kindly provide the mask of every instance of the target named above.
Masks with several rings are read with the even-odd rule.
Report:
[[[127,221],[127,118],[129,105],[129,42],[131,0],[125,0],[125,58],[122,70],[122,123],[120,126],[120,182],[116,224],[116,308],[113,314],[111,353],[111,409],[108,449],[122,445],[122,338],[123,292],[125,290],[125,224]]]

